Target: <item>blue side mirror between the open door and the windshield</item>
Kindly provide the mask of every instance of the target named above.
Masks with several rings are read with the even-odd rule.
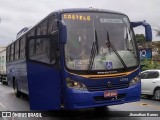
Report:
[[[59,43],[66,44],[67,42],[67,28],[64,22],[57,20],[57,26],[59,28]]]

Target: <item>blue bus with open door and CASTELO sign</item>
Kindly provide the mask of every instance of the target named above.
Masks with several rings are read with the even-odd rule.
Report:
[[[29,95],[31,110],[139,101],[140,59],[133,27],[119,12],[55,11],[7,46],[8,84],[17,97]]]

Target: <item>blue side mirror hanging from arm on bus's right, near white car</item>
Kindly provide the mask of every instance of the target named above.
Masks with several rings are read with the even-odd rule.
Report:
[[[152,29],[150,25],[145,25],[146,41],[152,41]]]

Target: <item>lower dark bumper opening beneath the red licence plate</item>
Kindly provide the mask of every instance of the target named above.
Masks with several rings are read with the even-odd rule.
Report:
[[[108,98],[105,98],[104,96],[96,96],[96,97],[93,97],[95,101],[109,101],[109,100],[120,100],[120,99],[124,99],[126,96],[126,93],[123,93],[123,94],[118,94],[117,98],[115,99],[115,97],[108,97]],[[113,99],[114,98],[114,99]]]

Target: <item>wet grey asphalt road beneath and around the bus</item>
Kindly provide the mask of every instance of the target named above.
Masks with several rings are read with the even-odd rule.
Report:
[[[10,86],[2,85],[0,83],[0,111],[29,111],[29,98],[24,96],[16,98],[13,89]],[[136,113],[157,113],[159,117],[123,117],[126,116],[125,111],[137,111]],[[128,113],[129,114],[129,113]],[[154,99],[147,99],[142,97],[141,101],[126,103],[122,105],[108,106],[105,110],[97,109],[81,109],[76,111],[47,111],[45,115],[52,117],[43,118],[3,118],[4,120],[159,120],[160,119],[160,101]],[[0,118],[1,120],[1,118]]]

